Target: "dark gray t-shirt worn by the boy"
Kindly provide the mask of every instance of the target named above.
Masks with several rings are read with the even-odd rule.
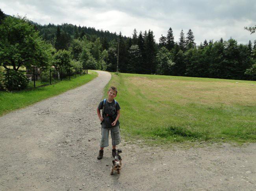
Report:
[[[100,101],[100,104],[98,105],[98,109],[103,109],[103,102],[104,100]],[[117,117],[117,110],[121,109],[118,102],[117,102],[117,106],[115,108],[115,100],[113,100],[113,102],[109,103],[108,100],[106,100],[105,103],[105,109],[104,109],[104,121],[102,122],[102,126],[104,128],[110,128],[110,127],[114,127],[111,125],[111,123],[115,120],[115,118]],[[108,116],[107,116],[108,114]],[[117,123],[115,125],[118,126],[119,125],[119,120],[117,120]]]

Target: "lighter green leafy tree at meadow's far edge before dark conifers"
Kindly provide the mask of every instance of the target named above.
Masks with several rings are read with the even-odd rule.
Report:
[[[165,47],[161,47],[156,55],[157,67],[156,73],[158,75],[170,75],[171,67],[175,64],[171,59],[171,53]]]

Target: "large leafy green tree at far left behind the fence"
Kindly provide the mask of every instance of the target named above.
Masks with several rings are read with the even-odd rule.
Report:
[[[19,67],[48,66],[52,49],[28,23],[26,17],[6,17],[0,25],[0,63],[6,69]]]

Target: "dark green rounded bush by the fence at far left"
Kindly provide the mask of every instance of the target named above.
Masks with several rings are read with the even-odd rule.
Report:
[[[10,90],[21,90],[28,86],[29,79],[22,72],[9,70],[5,73],[5,85]]]

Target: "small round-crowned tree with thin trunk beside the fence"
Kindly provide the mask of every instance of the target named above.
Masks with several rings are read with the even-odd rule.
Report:
[[[54,62],[52,65],[56,69],[58,73],[58,78],[59,78],[59,73],[61,72],[61,69],[67,70],[70,67],[70,60],[71,60],[71,54],[70,51],[67,50],[58,50],[54,54]]]

